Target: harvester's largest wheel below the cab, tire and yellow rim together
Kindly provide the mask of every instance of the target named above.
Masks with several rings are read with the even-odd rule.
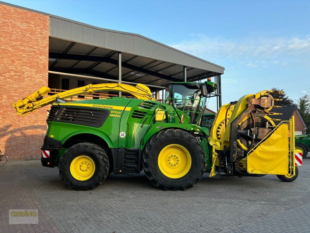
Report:
[[[150,182],[162,190],[186,190],[196,184],[204,172],[201,144],[183,130],[159,132],[146,144],[143,168]]]

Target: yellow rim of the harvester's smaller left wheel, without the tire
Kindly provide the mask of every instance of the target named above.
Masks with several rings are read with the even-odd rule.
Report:
[[[95,173],[95,163],[90,157],[80,155],[72,160],[70,172],[77,180],[88,180]]]

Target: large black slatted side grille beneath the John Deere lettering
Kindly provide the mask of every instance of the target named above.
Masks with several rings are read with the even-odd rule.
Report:
[[[107,119],[108,110],[93,108],[64,107],[57,117],[57,121],[100,127]]]

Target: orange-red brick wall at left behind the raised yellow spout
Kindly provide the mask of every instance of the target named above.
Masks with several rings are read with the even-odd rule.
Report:
[[[47,86],[48,36],[49,16],[0,4],[0,149],[9,159],[40,154],[49,107],[23,117],[12,103]]]

